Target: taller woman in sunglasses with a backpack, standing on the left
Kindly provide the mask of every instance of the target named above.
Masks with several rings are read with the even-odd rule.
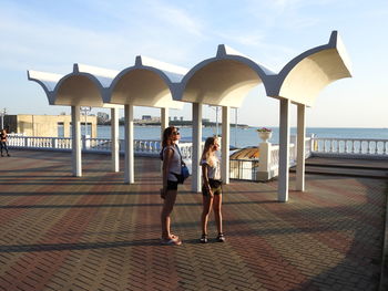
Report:
[[[171,233],[171,212],[173,211],[176,193],[177,178],[174,174],[181,174],[181,154],[177,145],[181,135],[177,127],[170,126],[163,132],[162,155],[163,155],[163,188],[161,197],[164,199],[161,220],[162,220],[162,245],[178,246],[182,243],[180,238]]]

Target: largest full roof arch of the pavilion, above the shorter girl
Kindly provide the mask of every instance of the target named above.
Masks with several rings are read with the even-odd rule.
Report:
[[[215,58],[195,65],[182,80],[178,101],[239,107],[246,94],[274,74],[237,51],[221,44]]]

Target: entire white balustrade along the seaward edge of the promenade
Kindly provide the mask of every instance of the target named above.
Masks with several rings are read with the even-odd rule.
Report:
[[[111,139],[110,138],[85,138],[82,143],[83,152],[88,153],[110,153]],[[71,138],[69,137],[37,137],[37,136],[20,136],[9,135],[9,147],[13,148],[43,148],[49,150],[71,150]],[[120,139],[120,152],[123,153],[124,141]],[[85,145],[88,147],[85,148]],[[319,137],[306,137],[306,158],[309,156],[336,156],[336,157],[351,157],[351,158],[387,158],[388,159],[388,139],[372,139],[372,138],[319,138]],[[154,156],[159,157],[162,148],[161,141],[156,139],[135,139],[134,153],[136,156]],[[192,143],[180,143],[180,149],[182,158],[190,165],[193,154]],[[278,157],[279,146],[270,145],[268,153],[261,150],[262,160],[263,155],[268,155],[267,165],[261,168],[266,168],[266,172],[272,173],[270,177],[275,177],[278,172]],[[231,162],[232,163],[232,162]],[[242,162],[239,162],[242,163]],[[296,163],[296,146],[290,144],[289,146],[289,164],[295,166]],[[258,174],[258,167],[255,165],[255,175]],[[255,178],[253,178],[255,179]]]

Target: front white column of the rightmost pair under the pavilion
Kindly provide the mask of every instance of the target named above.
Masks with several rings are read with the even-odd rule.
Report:
[[[280,128],[279,128],[279,178],[277,199],[282,202],[288,200],[288,170],[289,170],[289,100],[280,100]]]

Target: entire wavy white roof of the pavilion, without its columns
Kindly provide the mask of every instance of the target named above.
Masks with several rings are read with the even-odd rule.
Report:
[[[337,31],[327,44],[310,49],[289,61],[279,73],[221,44],[215,58],[192,70],[145,56],[121,71],[74,64],[73,72],[59,74],[28,71],[53,105],[175,107],[180,102],[238,107],[246,94],[263,83],[267,96],[287,98],[312,106],[319,92],[331,82],[351,76]]]

